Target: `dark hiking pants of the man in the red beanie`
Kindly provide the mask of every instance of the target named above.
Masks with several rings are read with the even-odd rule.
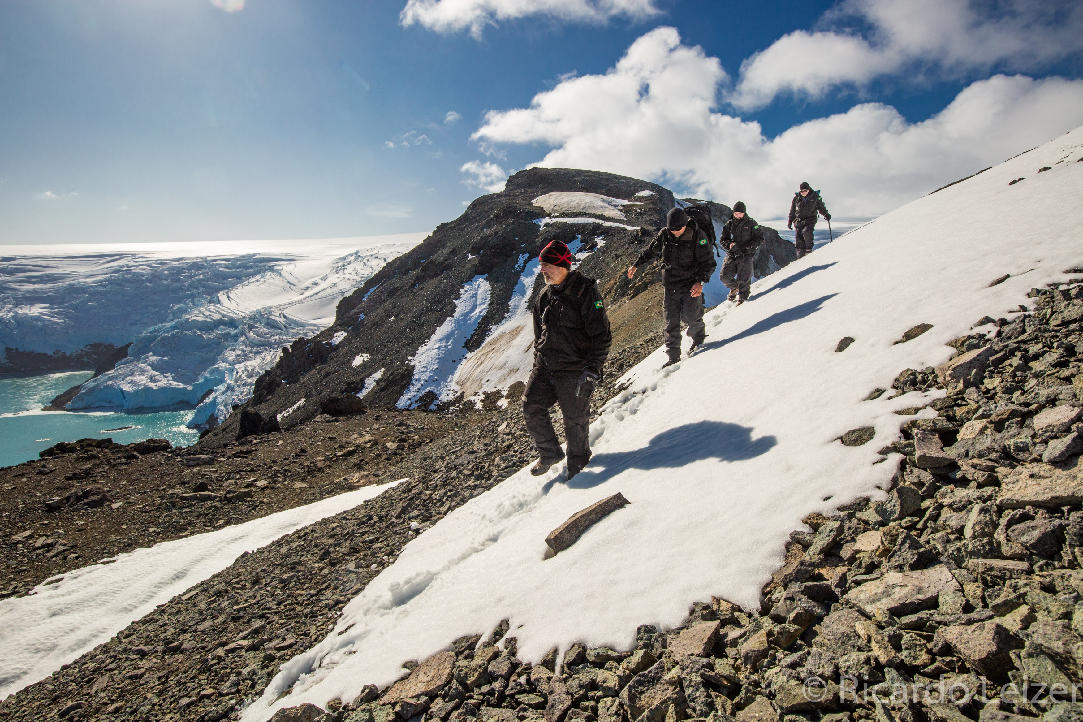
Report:
[[[549,419],[549,409],[560,404],[567,438],[567,463],[583,468],[590,461],[590,396],[576,396],[582,371],[550,371],[535,366],[523,392],[523,419],[534,439],[543,463],[556,463],[564,458],[557,431]]]

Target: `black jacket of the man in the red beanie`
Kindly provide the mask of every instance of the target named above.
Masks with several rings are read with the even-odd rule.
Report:
[[[585,371],[601,376],[613,344],[609,316],[593,278],[572,271],[546,286],[534,302],[534,364],[550,371]]]

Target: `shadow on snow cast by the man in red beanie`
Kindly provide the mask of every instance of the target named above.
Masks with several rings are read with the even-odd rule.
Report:
[[[752,429],[725,421],[697,421],[667,429],[634,451],[596,454],[567,486],[590,488],[628,469],[677,469],[693,461],[741,461],[767,452],[774,436],[752,437]],[[554,481],[559,481],[554,480]]]

